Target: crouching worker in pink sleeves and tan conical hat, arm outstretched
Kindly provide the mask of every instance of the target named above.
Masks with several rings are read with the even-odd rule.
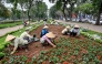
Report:
[[[55,35],[52,32],[49,32],[40,39],[40,43],[42,44],[42,46],[50,44],[55,47],[55,45],[51,42],[51,40],[53,40],[54,38]]]

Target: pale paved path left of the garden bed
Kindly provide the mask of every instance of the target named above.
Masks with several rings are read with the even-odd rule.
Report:
[[[34,24],[34,22],[31,24]],[[23,28],[23,25],[16,25],[12,28],[0,29],[0,36],[4,35],[6,33],[9,33],[9,32],[17,31],[22,28]]]

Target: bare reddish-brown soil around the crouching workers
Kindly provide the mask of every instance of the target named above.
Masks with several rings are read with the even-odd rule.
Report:
[[[43,26],[44,25],[41,25],[41,26],[37,28],[35,30],[30,32],[30,34],[31,35],[35,34],[37,38],[40,38],[40,32],[41,32]],[[48,26],[49,26],[50,32],[53,32],[53,33],[58,34],[58,38],[55,39],[55,41],[60,36],[69,38],[68,35],[62,35],[61,34],[61,31],[64,29],[64,26],[62,26],[62,25],[49,25],[49,24],[48,24]],[[80,36],[80,38],[73,38],[73,39],[83,40],[84,38]],[[10,47],[10,51],[13,49],[12,46],[9,46],[9,47]],[[26,50],[23,50],[23,49],[19,49],[18,52],[14,53],[14,55],[26,55],[28,57],[32,57],[33,55],[38,56],[41,51],[48,51],[50,49],[53,49],[53,47],[51,45],[49,45],[49,46],[45,46],[45,49],[43,49],[41,46],[40,42],[32,42],[32,43],[29,44],[29,51],[28,52],[26,52]]]

